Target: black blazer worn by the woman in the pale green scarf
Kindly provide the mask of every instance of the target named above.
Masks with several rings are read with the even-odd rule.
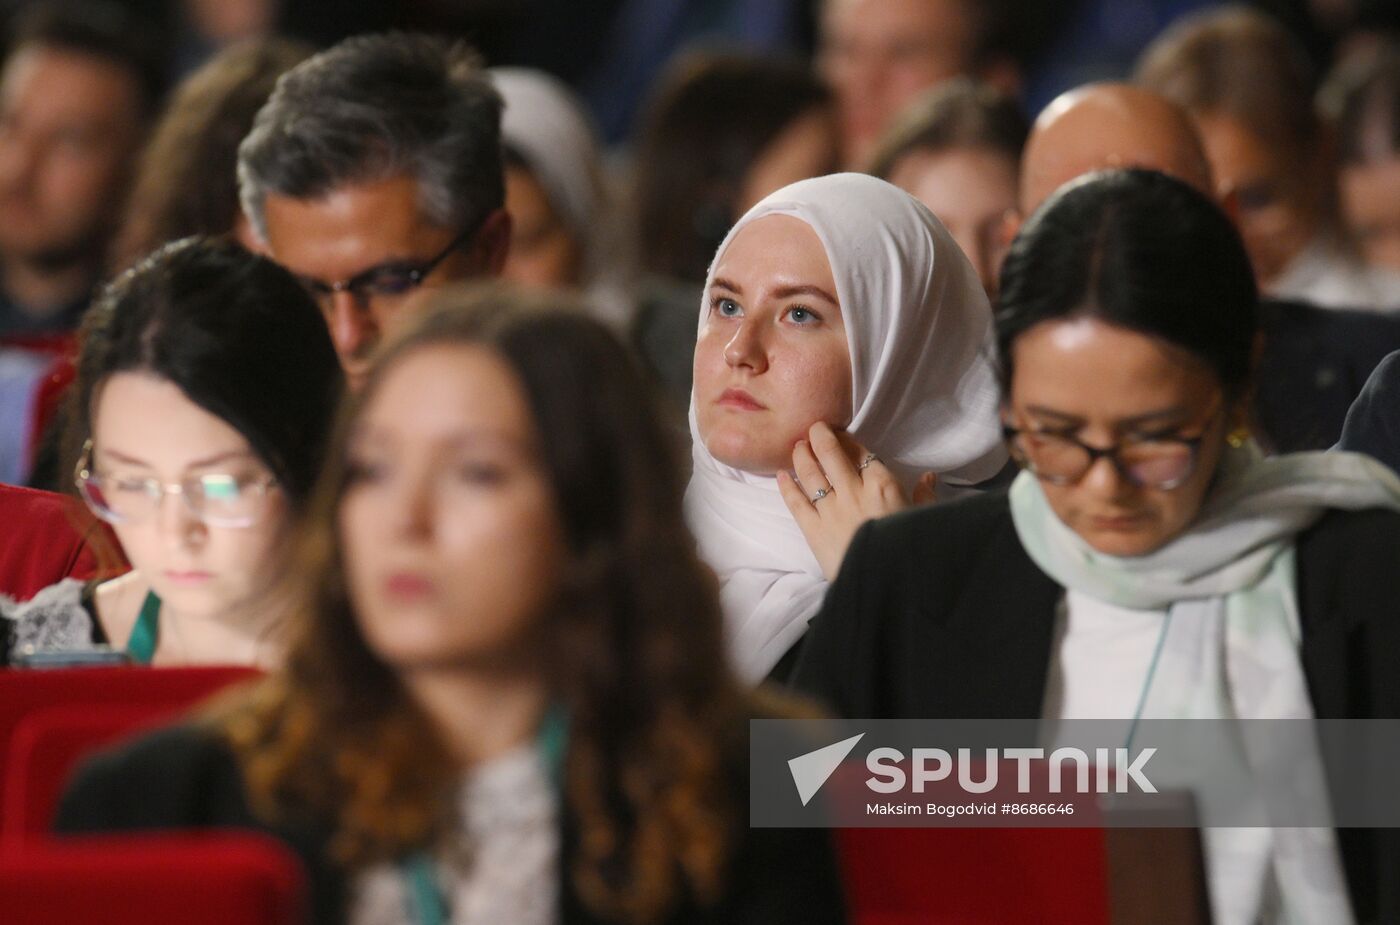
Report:
[[[1039,719],[1064,588],[1005,493],[857,532],[792,684],[853,718]],[[1298,537],[1302,665],[1319,718],[1400,716],[1400,514],[1330,512]],[[1400,922],[1400,830],[1341,830],[1361,921]]]

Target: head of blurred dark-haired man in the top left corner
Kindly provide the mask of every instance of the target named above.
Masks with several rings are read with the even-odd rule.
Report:
[[[161,59],[122,7],[36,4],[0,74],[0,337],[71,330],[92,297]]]

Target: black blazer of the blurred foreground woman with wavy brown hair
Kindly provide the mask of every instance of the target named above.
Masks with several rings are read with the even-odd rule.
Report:
[[[745,777],[746,782],[746,777]],[[742,796],[742,795],[741,795]],[[748,799],[739,800],[748,806]],[[563,820],[561,865],[578,845],[568,813]],[[230,749],[211,732],[174,726],[90,761],[59,807],[60,833],[161,828],[251,828],[283,841],[302,862],[309,886],[309,921],[346,919],[349,879],[328,854],[329,830],[267,826],[248,807],[242,774]],[[603,925],[560,872],[564,925]],[[830,833],[820,828],[742,828],[727,893],[714,905],[686,900],[668,925],[808,924],[846,921],[840,873]]]

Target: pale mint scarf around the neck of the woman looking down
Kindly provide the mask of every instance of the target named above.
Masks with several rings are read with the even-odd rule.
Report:
[[[1359,453],[1261,459],[1253,446],[1231,449],[1191,526],[1137,557],[1089,547],[1030,473],[1011,487],[1016,533],[1047,575],[1107,603],[1170,616],[1142,708],[1144,718],[1165,719],[1313,716],[1298,655],[1294,540],[1330,508],[1400,511],[1400,479]],[[1267,743],[1240,735],[1236,746],[1253,774],[1270,774]],[[1309,757],[1322,781],[1316,750]],[[1333,830],[1217,828],[1205,837],[1218,922],[1267,915],[1270,894],[1284,921],[1354,921]]]

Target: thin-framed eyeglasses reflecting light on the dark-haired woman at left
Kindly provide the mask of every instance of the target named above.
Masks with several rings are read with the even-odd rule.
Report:
[[[204,473],[164,483],[148,476],[101,473],[92,465],[91,439],[83,444],[73,481],[92,514],[108,523],[141,523],[160,514],[165,495],[176,494],[190,515],[218,528],[258,523],[266,516],[267,495],[277,486],[277,479],[269,474]]]

